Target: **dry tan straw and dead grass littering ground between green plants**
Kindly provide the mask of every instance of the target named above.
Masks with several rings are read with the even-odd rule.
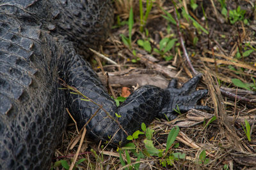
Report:
[[[161,166],[158,157],[145,157],[140,160],[141,169],[223,169],[225,165],[228,169],[253,169],[256,167],[256,133],[255,133],[255,92],[240,90],[232,83],[233,78],[237,78],[246,84],[253,83],[256,79],[256,52],[252,52],[247,57],[237,57],[237,52],[244,53],[250,50],[251,46],[256,44],[256,23],[255,11],[253,12],[253,3],[251,1],[227,1],[227,8],[232,10],[241,6],[242,10],[246,10],[245,18],[249,19],[250,25],[244,24],[242,21],[237,21],[235,24],[230,24],[223,15],[221,15],[221,5],[217,0],[211,1],[196,1],[198,7],[195,11],[191,9],[189,1],[177,3],[181,8],[185,6],[185,10],[193,17],[204,29],[209,31],[205,34],[204,31],[196,28],[191,20],[180,18],[180,32],[185,39],[186,50],[189,58],[196,71],[204,73],[204,78],[199,85],[199,88],[209,89],[209,96],[202,99],[202,104],[206,104],[214,109],[209,113],[197,113],[190,111],[188,114],[180,116],[177,120],[167,122],[166,120],[154,120],[150,127],[154,129],[154,145],[156,148],[164,149],[166,147],[167,134],[174,125],[179,125],[180,132],[175,143],[179,142],[178,148],[172,148],[172,152],[180,152],[186,154],[186,159],[175,160],[172,166]],[[255,3],[254,3],[255,5]],[[115,1],[115,17],[120,15],[124,20],[129,17],[129,9],[131,6],[138,9],[138,1],[118,0]],[[137,7],[136,7],[137,6]],[[138,11],[134,15],[135,24],[132,30],[132,50],[136,50],[137,57],[132,54],[132,50],[127,48],[122,42],[120,34],[128,36],[128,27],[123,25],[113,29],[113,32],[104,46],[102,53],[108,56],[109,59],[118,63],[116,66],[103,66],[104,71],[115,72],[124,71],[126,69],[145,69],[152,68],[140,62],[131,62],[132,59],[137,59],[138,56],[145,53],[151,55],[159,62],[159,66],[168,69],[172,72],[172,76],[168,76],[169,72],[164,74],[167,80],[173,77],[173,74],[180,81],[186,81],[193,75],[189,71],[189,67],[184,64],[185,60],[182,57],[183,51],[180,46],[173,48],[170,52],[164,55],[173,55],[170,61],[164,60],[162,55],[156,52],[145,52],[141,46],[138,46],[138,39],[149,39],[150,45],[159,48],[159,41],[166,37],[179,39],[176,25],[167,22],[161,15],[164,15],[161,8],[170,12],[173,15],[173,4],[171,1],[158,0],[154,3],[145,28],[148,29],[148,36],[139,31]],[[205,16],[202,11],[204,8]],[[180,10],[179,10],[180,11]],[[198,39],[197,43],[195,39]],[[143,63],[143,64],[141,64]],[[152,62],[154,63],[154,62]],[[147,65],[147,67],[145,66]],[[172,66],[172,69],[169,69]],[[156,69],[156,67],[154,67]],[[95,66],[97,70],[97,66]],[[155,73],[160,73],[155,70]],[[255,82],[254,82],[255,83]],[[225,97],[221,91],[222,87],[228,87],[235,98],[230,96]],[[224,89],[227,90],[227,89]],[[113,92],[116,96],[120,96],[120,87],[113,85]],[[236,97],[236,94],[246,97]],[[253,101],[254,100],[254,101]],[[254,103],[253,103],[254,102]],[[199,115],[198,115],[199,114]],[[204,122],[208,122],[212,116],[216,120],[205,126]],[[251,138],[248,141],[243,130],[244,118],[251,124]],[[81,139],[81,134],[77,135],[76,126],[70,124],[68,130],[63,136],[63,143],[56,150],[56,159],[66,159],[68,164],[71,164],[72,157],[76,155],[79,147],[78,159],[84,158],[84,162],[79,164],[81,169],[122,169],[120,164],[120,155],[115,149],[103,147],[103,143],[92,143],[90,139],[86,139],[83,145],[78,146]],[[143,142],[139,143],[143,150]],[[199,155],[205,150],[208,164],[199,163]],[[54,160],[54,162],[55,162]],[[136,161],[136,156],[131,154],[131,161]],[[61,169],[57,167],[56,169]]]

